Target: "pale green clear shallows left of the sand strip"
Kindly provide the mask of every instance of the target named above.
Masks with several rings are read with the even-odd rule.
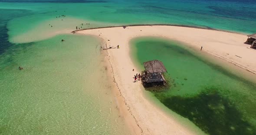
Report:
[[[98,45],[93,37],[58,35],[3,53],[0,134],[127,134]]]

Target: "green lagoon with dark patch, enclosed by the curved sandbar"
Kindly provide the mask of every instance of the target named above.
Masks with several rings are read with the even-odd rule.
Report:
[[[140,67],[160,60],[171,85],[154,96],[210,135],[254,135],[256,84],[186,50],[179,42],[156,38],[132,41]]]

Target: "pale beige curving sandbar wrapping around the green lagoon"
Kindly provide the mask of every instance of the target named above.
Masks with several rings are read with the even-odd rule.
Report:
[[[74,32],[99,36],[105,41],[103,47],[120,45],[119,49],[105,51],[117,89],[115,98],[120,114],[137,135],[191,135],[196,134],[196,131],[184,127],[154,106],[143,96],[142,85],[133,83],[132,76],[140,70],[130,58],[131,39],[139,36],[157,36],[181,41],[198,49],[203,46],[204,52],[256,74],[256,63],[253,60],[256,50],[243,44],[247,37],[242,34],[178,26],[129,26],[126,29],[112,27]]]

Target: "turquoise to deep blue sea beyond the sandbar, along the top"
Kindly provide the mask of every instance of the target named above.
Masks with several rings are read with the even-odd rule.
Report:
[[[30,33],[33,39],[33,36],[42,36],[37,30],[46,35],[63,29],[74,30],[86,22],[90,22],[90,26],[83,28],[122,24],[177,24],[256,32],[256,6],[253,0],[1,0],[0,3],[0,9],[28,10],[31,13],[15,17],[8,23],[12,42],[26,38],[24,35],[16,39],[24,33]],[[66,18],[56,18],[64,14]],[[49,24],[53,28],[47,27]]]

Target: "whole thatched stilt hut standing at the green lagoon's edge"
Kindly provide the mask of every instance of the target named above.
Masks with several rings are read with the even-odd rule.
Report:
[[[145,86],[164,85],[163,73],[167,72],[161,61],[153,60],[144,62],[145,72],[142,76],[142,82]]]

